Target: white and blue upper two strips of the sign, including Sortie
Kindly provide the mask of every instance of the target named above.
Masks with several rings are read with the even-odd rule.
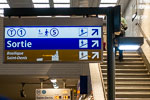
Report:
[[[5,31],[5,50],[101,49],[100,26],[10,26]]]

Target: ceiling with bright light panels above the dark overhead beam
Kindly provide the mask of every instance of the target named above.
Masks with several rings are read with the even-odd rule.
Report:
[[[0,0],[0,16],[3,8],[69,8],[69,7],[109,7],[120,4],[122,12],[130,0]]]

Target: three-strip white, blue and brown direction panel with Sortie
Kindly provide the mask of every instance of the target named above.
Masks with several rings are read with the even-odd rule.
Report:
[[[5,26],[5,63],[101,61],[101,26]]]

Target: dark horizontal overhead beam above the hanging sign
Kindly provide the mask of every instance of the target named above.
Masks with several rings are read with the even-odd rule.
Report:
[[[5,8],[4,16],[50,16],[107,14],[107,8]]]

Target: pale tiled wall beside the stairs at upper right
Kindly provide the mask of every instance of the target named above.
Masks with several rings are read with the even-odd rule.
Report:
[[[132,17],[136,11],[137,16],[135,20],[132,21]],[[128,23],[128,30],[126,31],[127,37],[142,36],[142,32],[140,31],[142,29],[143,33],[150,41],[150,0],[130,0],[124,16]],[[141,48],[150,64],[150,46],[146,42],[146,38]]]

